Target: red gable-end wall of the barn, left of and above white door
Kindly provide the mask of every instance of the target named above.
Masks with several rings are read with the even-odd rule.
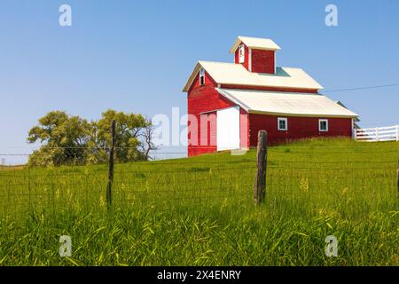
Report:
[[[188,114],[193,114],[196,119],[197,125],[192,123],[188,123],[188,139],[189,139],[189,146],[188,146],[188,155],[198,155],[198,154],[205,154],[205,153],[213,153],[216,151],[216,126],[209,127],[210,123],[216,124],[216,114],[210,115],[207,114],[204,117],[209,119],[207,122],[207,143],[206,145],[201,145],[201,120],[200,120],[200,113],[203,112],[210,112],[213,110],[217,110],[220,108],[225,108],[229,106],[235,106],[231,101],[225,99],[222,95],[220,95],[217,91],[215,91],[216,87],[215,81],[205,73],[205,85],[200,86],[199,82],[199,75],[196,76],[192,83],[192,87],[188,91],[187,101],[188,101]],[[204,115],[204,114],[203,114]],[[192,131],[196,131],[198,133],[197,138],[195,135],[192,135]],[[212,143],[214,142],[214,143]]]

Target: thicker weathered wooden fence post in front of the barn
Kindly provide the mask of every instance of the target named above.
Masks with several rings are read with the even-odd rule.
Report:
[[[254,183],[254,202],[261,204],[266,197],[266,168],[267,168],[267,141],[268,133],[266,130],[259,130],[258,132],[258,150],[256,155],[256,177]]]

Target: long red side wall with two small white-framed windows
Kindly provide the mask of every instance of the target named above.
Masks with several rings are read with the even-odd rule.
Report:
[[[318,131],[318,119],[324,117],[286,117],[288,130],[278,130],[278,117],[268,114],[249,114],[250,146],[256,146],[259,130],[268,131],[268,143],[270,145],[290,141],[299,138],[313,137],[351,137],[352,120],[350,118],[327,118],[328,132]]]

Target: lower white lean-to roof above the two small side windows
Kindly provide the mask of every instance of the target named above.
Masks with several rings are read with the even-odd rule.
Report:
[[[216,90],[248,113],[344,118],[358,116],[348,108],[320,94],[220,88]]]

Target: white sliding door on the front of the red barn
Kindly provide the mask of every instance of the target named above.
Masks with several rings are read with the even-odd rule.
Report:
[[[217,111],[217,151],[239,149],[239,106]]]

